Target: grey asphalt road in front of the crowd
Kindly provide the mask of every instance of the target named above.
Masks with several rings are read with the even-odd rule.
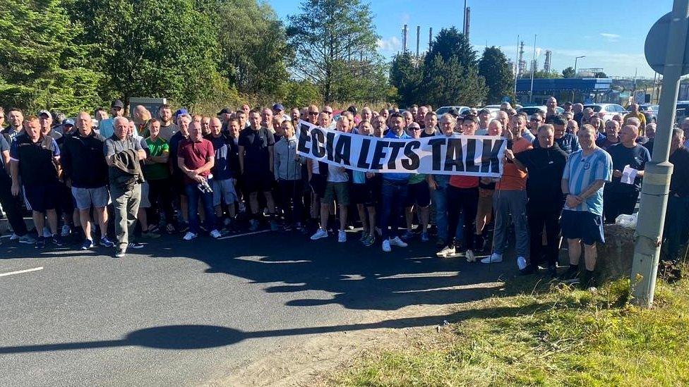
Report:
[[[438,259],[430,242],[383,253],[348,235],[164,236],[124,259],[3,238],[0,386],[195,385],[366,313],[486,297],[456,287],[515,271],[511,259],[489,270]]]

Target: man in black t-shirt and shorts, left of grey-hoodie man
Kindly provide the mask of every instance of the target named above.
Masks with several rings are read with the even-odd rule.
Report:
[[[260,112],[249,112],[251,126],[239,133],[239,169],[244,183],[244,195],[251,206],[250,231],[258,230],[258,192],[263,192],[270,214],[270,226],[277,229],[275,202],[272,199],[273,146],[275,137],[260,126]]]

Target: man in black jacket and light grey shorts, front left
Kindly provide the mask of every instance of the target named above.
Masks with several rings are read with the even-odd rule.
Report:
[[[81,228],[85,240],[81,250],[93,247],[90,209],[100,226],[100,245],[113,247],[105,235],[107,231],[108,169],[103,154],[105,139],[92,128],[91,116],[82,111],[76,120],[78,132],[66,136],[62,149],[62,166],[65,182],[71,187],[72,196],[79,209]]]

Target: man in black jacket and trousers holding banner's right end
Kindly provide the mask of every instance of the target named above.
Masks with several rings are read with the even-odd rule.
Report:
[[[528,149],[516,156],[508,149],[505,156],[513,159],[517,166],[527,169],[527,218],[530,230],[531,263],[522,273],[538,269],[543,256],[548,264],[548,274],[556,276],[558,262],[558,236],[560,235],[560,212],[563,195],[560,180],[567,162],[567,154],[555,142],[553,125],[541,125],[538,129],[539,147]],[[543,245],[543,232],[546,245]]]

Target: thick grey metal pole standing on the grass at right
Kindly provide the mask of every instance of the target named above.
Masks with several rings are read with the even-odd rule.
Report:
[[[689,23],[689,0],[675,0],[672,7],[663,88],[658,109],[658,126],[653,156],[646,164],[641,189],[641,204],[634,243],[634,262],[631,273],[632,302],[640,307],[651,307],[656,285],[660,245],[665,223],[665,211],[672,175],[669,163],[672,123],[679,91],[679,79],[684,62],[684,51]]]

